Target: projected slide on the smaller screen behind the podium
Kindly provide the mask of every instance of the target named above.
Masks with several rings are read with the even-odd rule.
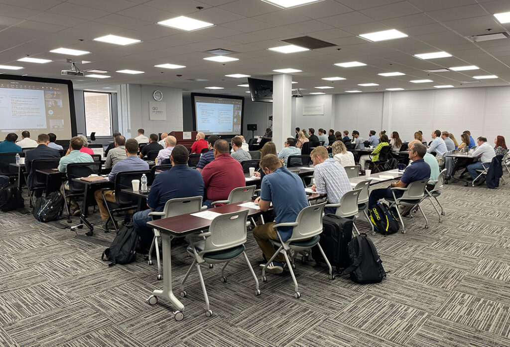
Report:
[[[195,129],[206,135],[239,135],[244,98],[192,94]]]

